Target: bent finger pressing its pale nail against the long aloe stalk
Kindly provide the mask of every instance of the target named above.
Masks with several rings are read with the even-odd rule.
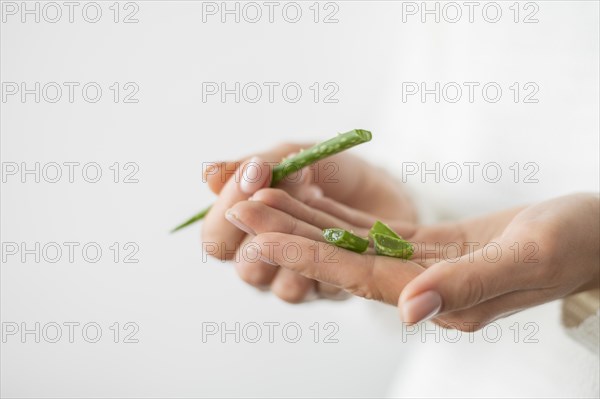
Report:
[[[236,246],[245,233],[225,218],[225,212],[239,201],[248,199],[260,188],[271,182],[271,170],[268,163],[258,157],[244,162],[230,179],[217,201],[204,219],[202,226],[203,241],[212,242],[218,248],[215,254],[219,259],[230,259]]]

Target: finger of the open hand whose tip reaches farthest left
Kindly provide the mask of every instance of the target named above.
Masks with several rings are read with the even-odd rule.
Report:
[[[238,202],[226,218],[248,234],[278,232],[324,241],[321,229],[258,201]]]

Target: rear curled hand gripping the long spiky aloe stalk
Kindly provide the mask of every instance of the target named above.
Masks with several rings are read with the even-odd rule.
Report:
[[[241,217],[233,210],[227,213],[230,208],[248,200],[258,190],[269,187],[274,163],[302,147],[306,146],[284,144],[258,157],[239,162],[216,163],[207,168],[206,181],[219,197],[204,220],[203,245],[208,254],[222,260],[232,260],[244,281],[257,288],[270,288],[285,301],[297,303],[317,296],[344,298],[344,293],[330,284],[316,282],[267,262],[246,261],[244,256],[240,256],[241,249],[254,235],[253,230],[244,226]],[[364,182],[369,184],[365,185]],[[268,201],[271,197],[273,201],[278,201],[285,191],[290,200],[296,198],[300,203],[312,201],[316,209],[323,213],[337,213],[339,218],[335,220],[343,223],[362,221],[368,224],[365,218],[368,221],[373,219],[360,212],[350,211],[351,207],[372,208],[378,217],[383,218],[393,217],[411,222],[416,218],[412,203],[396,182],[386,178],[385,172],[347,153],[305,168],[301,176],[290,176],[278,187],[281,190],[267,190],[257,198],[263,196]],[[323,193],[339,202],[324,197]],[[262,232],[259,227],[255,227],[254,231]]]

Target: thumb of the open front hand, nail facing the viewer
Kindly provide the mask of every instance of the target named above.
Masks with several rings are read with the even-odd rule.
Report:
[[[515,262],[509,246],[490,242],[427,268],[402,290],[398,300],[401,319],[417,323],[523,288],[531,280],[527,276],[531,268]]]

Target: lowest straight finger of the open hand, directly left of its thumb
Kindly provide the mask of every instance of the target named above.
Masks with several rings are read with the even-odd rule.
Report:
[[[421,266],[409,261],[361,255],[289,234],[258,234],[252,244],[257,257],[263,261],[351,294],[386,303],[397,303],[402,288],[423,271]],[[254,245],[249,245],[249,249]]]

